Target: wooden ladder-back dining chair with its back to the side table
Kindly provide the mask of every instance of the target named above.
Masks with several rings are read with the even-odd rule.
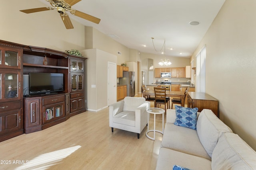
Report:
[[[168,108],[168,100],[166,100],[166,88],[154,87],[154,92],[155,92],[155,107],[160,107],[162,104],[164,104],[164,109],[166,112],[166,104]]]

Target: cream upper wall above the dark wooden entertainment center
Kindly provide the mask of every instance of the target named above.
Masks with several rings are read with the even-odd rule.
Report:
[[[36,0],[22,0],[22,3],[20,0],[1,1],[0,39],[58,51],[84,49],[84,25],[72,20],[75,29],[66,29],[56,10],[32,14],[19,11],[44,6]]]

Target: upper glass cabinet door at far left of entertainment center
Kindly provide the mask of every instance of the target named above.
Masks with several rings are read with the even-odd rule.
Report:
[[[0,51],[1,68],[21,69],[21,50],[2,48]]]

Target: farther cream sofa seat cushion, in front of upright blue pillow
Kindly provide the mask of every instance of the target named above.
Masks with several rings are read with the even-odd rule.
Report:
[[[211,160],[210,156],[200,143],[195,130],[187,127],[176,126],[173,123],[165,124],[161,147]]]

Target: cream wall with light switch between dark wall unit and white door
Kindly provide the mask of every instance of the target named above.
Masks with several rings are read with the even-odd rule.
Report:
[[[100,49],[82,50],[86,60],[86,109],[98,111],[108,107],[108,62],[116,63],[117,57]]]

